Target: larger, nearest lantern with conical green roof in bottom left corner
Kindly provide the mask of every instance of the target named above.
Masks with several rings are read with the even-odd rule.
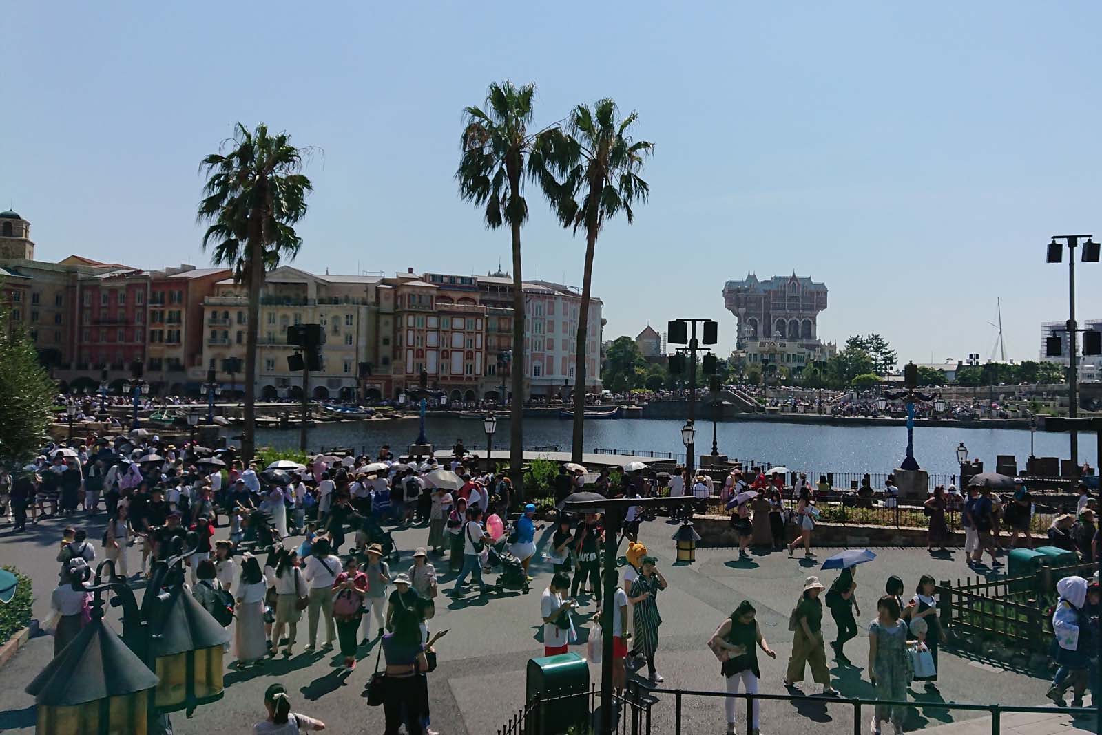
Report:
[[[145,735],[149,690],[156,676],[93,619],[26,687],[37,703],[37,735]]]

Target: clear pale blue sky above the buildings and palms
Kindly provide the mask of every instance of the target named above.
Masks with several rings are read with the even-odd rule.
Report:
[[[240,120],[318,147],[295,265],[507,267],[453,178],[462,108],[505,78],[537,84],[538,123],[609,96],[656,144],[650,202],[597,243],[606,337],[710,317],[725,353],[724,282],[795,270],[830,287],[824,338],[986,359],[1001,296],[1007,355],[1036,359],[1067,318],[1048,237],[1102,235],[1092,2],[18,2],[3,24],[0,205],[43,260],[207,263],[197,165]],[[529,207],[525,275],[580,285],[584,240]],[[1080,268],[1081,318],[1100,283]]]

